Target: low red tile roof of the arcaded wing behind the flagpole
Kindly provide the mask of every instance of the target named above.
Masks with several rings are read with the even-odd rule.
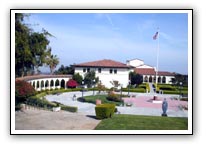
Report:
[[[154,68],[135,68],[134,71],[141,75],[155,75]],[[174,73],[166,71],[158,71],[158,76],[174,76]]]

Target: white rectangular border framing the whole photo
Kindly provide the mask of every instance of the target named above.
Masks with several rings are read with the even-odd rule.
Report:
[[[187,13],[188,130],[15,130],[15,13]],[[10,134],[11,135],[193,135],[193,9],[11,9]]]

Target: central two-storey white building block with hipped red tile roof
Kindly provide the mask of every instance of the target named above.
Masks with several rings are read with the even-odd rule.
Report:
[[[86,62],[74,65],[75,73],[85,76],[87,72],[95,71],[99,81],[108,88],[113,87],[113,81],[118,81],[122,87],[127,87],[129,82],[129,72],[133,67],[114,60],[104,59],[93,62]]]

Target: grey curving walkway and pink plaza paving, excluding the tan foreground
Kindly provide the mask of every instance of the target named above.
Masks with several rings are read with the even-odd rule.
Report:
[[[92,95],[93,92],[85,92],[84,96]],[[124,92],[126,94],[126,92]],[[64,105],[77,106],[79,113],[84,113],[88,115],[95,115],[95,105],[91,103],[82,103],[79,101],[73,101],[73,95],[81,97],[81,92],[68,92],[61,95],[47,95],[46,99],[49,101],[60,102]],[[136,115],[152,115],[160,116],[162,114],[162,107],[160,104],[154,104],[149,102],[153,98],[154,94],[144,94],[144,93],[131,93],[135,95],[136,98],[125,98],[125,102],[134,102],[132,107],[117,107],[121,114],[136,114]],[[172,98],[177,97],[177,95],[158,95],[158,98],[163,100],[164,98],[168,101],[168,111],[167,114],[170,117],[188,117],[188,111],[180,109],[180,105],[187,105],[185,101],[178,101]]]

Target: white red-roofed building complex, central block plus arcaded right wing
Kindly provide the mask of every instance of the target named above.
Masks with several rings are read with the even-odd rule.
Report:
[[[127,87],[129,83],[129,72],[135,71],[143,76],[143,82],[156,82],[155,67],[144,64],[143,60],[132,59],[126,64],[114,60],[104,59],[99,61],[86,62],[74,65],[75,73],[85,76],[87,72],[95,71],[99,81],[108,88],[113,87],[113,81],[118,81],[123,87]],[[174,74],[165,71],[158,71],[158,83],[170,84]]]

